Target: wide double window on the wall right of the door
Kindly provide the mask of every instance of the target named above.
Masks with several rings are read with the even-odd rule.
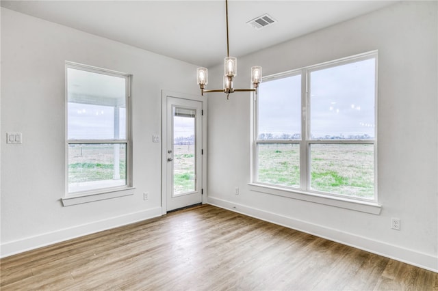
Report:
[[[257,184],[376,201],[376,52],[264,78]]]

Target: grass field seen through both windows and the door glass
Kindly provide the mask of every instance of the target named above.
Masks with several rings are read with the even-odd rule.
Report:
[[[258,181],[300,188],[298,144],[266,143],[258,148]],[[372,198],[374,146],[313,144],[310,148],[311,190]],[[174,194],[195,191],[193,145],[174,145]],[[126,149],[120,145],[120,179],[126,177]],[[68,183],[112,180],[114,145],[70,145]]]

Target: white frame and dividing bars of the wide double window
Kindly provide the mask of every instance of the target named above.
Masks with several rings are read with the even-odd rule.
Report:
[[[363,61],[366,59],[374,59],[374,138],[373,139],[311,139],[310,137],[310,126],[311,126],[311,102],[310,102],[310,86],[311,86],[311,79],[310,75],[313,71],[323,70],[326,68],[333,68],[336,66],[342,66],[345,64],[352,64],[357,61]],[[254,106],[253,106],[253,166],[251,167],[251,170],[253,174],[252,182],[249,184],[251,185],[251,190],[253,191],[262,191],[267,193],[272,193],[274,195],[281,195],[285,197],[295,197],[299,199],[299,195],[297,194],[304,194],[307,197],[309,195],[315,196],[315,197],[323,197],[324,201],[326,201],[325,198],[328,199],[337,199],[339,201],[348,201],[348,202],[357,202],[359,204],[366,204],[366,205],[372,205],[372,206],[378,206],[378,193],[377,193],[377,182],[378,182],[378,176],[377,176],[377,129],[378,129],[378,120],[377,120],[377,113],[378,113],[378,52],[377,51],[370,51],[368,53],[362,53],[359,55],[352,55],[350,57],[344,57],[342,59],[336,59],[333,61],[326,61],[322,64],[316,64],[313,66],[306,66],[303,68],[298,68],[296,70],[289,70],[287,72],[281,72],[278,74],[271,74],[266,77],[263,77],[263,81],[274,81],[276,79],[283,79],[285,77],[292,77],[296,75],[301,75],[301,98],[300,98],[300,107],[301,107],[301,116],[300,116],[300,127],[301,127],[301,139],[259,139],[259,102],[257,98],[254,100]],[[259,154],[258,149],[260,144],[269,144],[269,143],[283,143],[283,144],[298,144],[300,146],[300,187],[295,188],[292,186],[282,186],[279,184],[270,184],[266,182],[259,182],[258,181],[258,165],[259,165]],[[366,199],[356,196],[350,196],[350,195],[342,195],[339,193],[329,193],[324,191],[317,191],[313,190],[310,187],[311,183],[311,156],[310,156],[310,147],[313,144],[372,144],[373,150],[374,150],[374,196],[372,199]],[[305,199],[307,200],[307,199]],[[310,199],[313,200],[313,199]],[[333,204],[332,202],[325,203],[325,202],[319,202],[322,204]],[[336,205],[334,205],[336,206]],[[355,206],[356,207],[356,206]],[[355,208],[354,207],[354,208]],[[346,207],[349,208],[349,207]],[[380,209],[380,206],[379,206]],[[369,211],[365,211],[369,212]],[[371,212],[375,212],[372,210]],[[380,212],[380,210],[378,210]]]

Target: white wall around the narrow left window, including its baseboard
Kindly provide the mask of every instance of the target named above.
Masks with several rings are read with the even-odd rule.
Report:
[[[133,74],[134,195],[63,207],[64,62]],[[161,214],[162,89],[198,94],[196,66],[1,8],[1,255]],[[20,145],[8,132],[23,133]],[[144,201],[142,193],[149,192]]]

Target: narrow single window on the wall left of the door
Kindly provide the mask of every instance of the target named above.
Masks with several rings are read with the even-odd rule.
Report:
[[[66,64],[69,194],[131,186],[130,77]]]

